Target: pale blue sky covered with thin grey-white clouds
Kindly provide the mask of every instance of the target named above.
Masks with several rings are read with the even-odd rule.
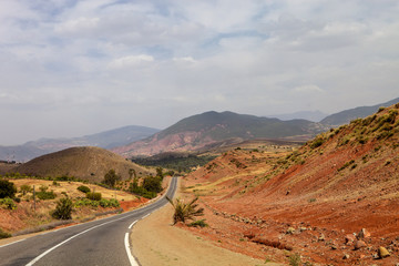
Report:
[[[0,145],[399,96],[397,0],[0,0]]]

